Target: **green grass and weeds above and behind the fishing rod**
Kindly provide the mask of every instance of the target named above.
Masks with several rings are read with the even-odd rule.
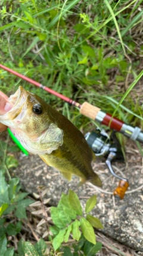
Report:
[[[113,113],[116,106],[105,97],[119,102],[127,74],[132,79],[139,72],[139,62],[133,58],[142,56],[142,44],[136,43],[132,31],[141,24],[142,11],[141,1],[135,2],[0,1],[0,62],[67,97],[81,103],[88,100]],[[10,95],[20,84],[61,110],[77,127],[85,126],[87,119],[71,108],[69,115],[69,107],[54,95],[4,70],[0,78],[5,93]],[[124,102],[126,111],[116,116],[120,118],[122,112],[123,121],[132,123],[137,119],[130,110],[141,116],[141,106],[136,100],[130,106],[131,98],[128,95]]]

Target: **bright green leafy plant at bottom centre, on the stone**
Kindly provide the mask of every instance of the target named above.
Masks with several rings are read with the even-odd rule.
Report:
[[[90,212],[97,203],[97,197],[94,195],[86,201],[85,212]],[[68,242],[70,234],[73,239],[80,241],[81,237],[85,241],[89,241],[92,247],[96,245],[96,237],[93,227],[103,228],[99,219],[92,215],[83,217],[82,206],[79,198],[74,191],[69,189],[69,194],[62,194],[57,207],[51,207],[51,217],[55,226],[50,227],[53,234],[52,245],[56,251],[60,248],[62,242]],[[71,219],[72,217],[72,219]],[[94,219],[95,218],[95,219]],[[93,225],[92,225],[93,224]],[[97,248],[97,247],[96,247]],[[92,249],[94,252],[94,249]],[[64,249],[64,254],[69,249]],[[71,254],[74,255],[74,254]],[[87,254],[88,255],[88,254]],[[95,255],[95,254],[89,254]]]

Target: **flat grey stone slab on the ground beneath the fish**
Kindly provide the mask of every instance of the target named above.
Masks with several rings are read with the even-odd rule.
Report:
[[[25,191],[38,194],[38,186],[45,186],[48,188],[46,198],[51,198],[51,205],[57,205],[61,192],[67,194],[69,189],[77,193],[82,206],[89,197],[97,194],[97,206],[91,214],[99,218],[104,225],[101,232],[137,252],[143,252],[143,188],[139,189],[143,184],[143,172],[139,153],[135,154],[132,150],[129,152],[128,168],[123,176],[126,174],[130,186],[129,194],[127,193],[123,200],[112,195],[119,180],[111,176],[104,159],[97,159],[93,167],[101,177],[101,191],[89,182],[77,188],[78,177],[73,176],[71,182],[68,182],[58,170],[46,165],[38,155],[25,156],[20,153],[18,161],[19,166],[11,175],[20,178]],[[121,175],[119,171],[125,169],[125,163],[115,162],[113,167],[116,173]]]

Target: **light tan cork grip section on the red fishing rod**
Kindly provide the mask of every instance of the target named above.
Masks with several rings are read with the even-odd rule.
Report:
[[[85,103],[83,103],[82,106],[80,107],[80,114],[87,116],[87,118],[91,118],[95,120],[100,110],[101,109],[99,109],[98,107],[92,106],[91,104],[85,101]]]

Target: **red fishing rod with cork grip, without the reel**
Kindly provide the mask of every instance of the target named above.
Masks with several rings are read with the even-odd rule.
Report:
[[[143,143],[143,131],[141,131],[139,127],[132,127],[128,124],[125,124],[125,122],[121,121],[120,119],[112,117],[109,113],[105,113],[98,107],[92,106],[86,101],[83,104],[77,103],[76,101],[73,101],[64,95],[58,92],[55,92],[54,90],[42,85],[41,83],[38,83],[33,79],[30,79],[29,77],[23,76],[17,71],[11,70],[10,68],[5,67],[2,64],[0,64],[0,68],[8,71],[9,73],[14,74],[15,76],[20,77],[23,80],[26,80],[29,83],[32,83],[35,86],[38,86],[39,88],[45,90],[46,92],[49,92],[49,94],[53,94],[56,97],[61,98],[61,100],[66,101],[70,105],[78,107],[82,115],[88,118],[91,118],[102,125],[106,125],[107,127],[122,133],[126,137],[131,138],[132,140],[137,140]]]

